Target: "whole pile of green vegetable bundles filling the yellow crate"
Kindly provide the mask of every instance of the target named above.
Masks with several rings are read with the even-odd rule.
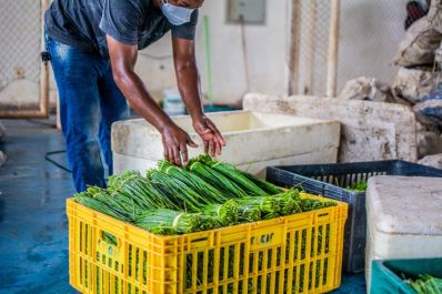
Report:
[[[128,171],[109,187],[90,186],[77,202],[154,234],[174,235],[269,220],[336,205],[301,197],[210,156],[187,168],[160,161],[147,176]]]

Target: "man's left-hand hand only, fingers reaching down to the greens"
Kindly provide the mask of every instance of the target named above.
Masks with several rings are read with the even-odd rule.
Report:
[[[164,159],[178,166],[189,163],[188,145],[198,148],[189,134],[175,124],[161,130]],[[181,160],[182,159],[182,160]]]

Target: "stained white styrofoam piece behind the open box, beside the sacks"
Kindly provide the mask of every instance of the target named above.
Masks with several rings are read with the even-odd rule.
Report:
[[[243,107],[249,111],[340,121],[340,162],[418,160],[415,115],[405,105],[335,98],[249,93],[244,97]]]

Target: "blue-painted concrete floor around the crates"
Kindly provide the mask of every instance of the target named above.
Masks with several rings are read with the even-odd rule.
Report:
[[[44,160],[63,150],[48,121],[1,121],[7,138],[0,150],[0,294],[70,294],[68,220],[64,201],[74,192],[69,173]],[[66,164],[64,155],[53,155]],[[336,294],[365,293],[364,276],[346,275]]]

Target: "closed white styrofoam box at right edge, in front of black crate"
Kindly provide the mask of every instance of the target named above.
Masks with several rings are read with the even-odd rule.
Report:
[[[368,286],[373,260],[442,257],[442,178],[370,178],[366,221]]]

